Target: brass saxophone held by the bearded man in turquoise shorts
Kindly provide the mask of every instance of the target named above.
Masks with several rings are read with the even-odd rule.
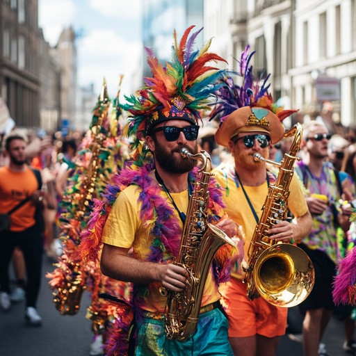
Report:
[[[186,289],[177,293],[161,288],[163,296],[167,296],[164,322],[165,334],[168,339],[186,341],[197,327],[200,303],[204,284],[216,251],[225,243],[235,247],[225,232],[207,223],[209,204],[209,179],[211,159],[209,154],[201,151],[191,154],[188,149],[181,149],[181,156],[202,161],[200,179],[197,179],[194,191],[188,204],[186,223],[181,236],[179,254],[174,264],[184,267],[189,274]]]

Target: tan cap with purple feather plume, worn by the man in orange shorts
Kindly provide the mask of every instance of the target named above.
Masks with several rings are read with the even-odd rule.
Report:
[[[277,143],[284,136],[282,120],[295,113],[296,110],[284,110],[273,103],[268,94],[268,74],[264,79],[254,80],[250,60],[255,52],[250,53],[250,46],[246,46],[239,60],[240,72],[243,77],[242,86],[237,86],[231,77],[225,76],[218,90],[218,103],[211,119],[220,118],[220,126],[215,138],[218,145],[228,147],[238,133],[266,133],[272,143]]]

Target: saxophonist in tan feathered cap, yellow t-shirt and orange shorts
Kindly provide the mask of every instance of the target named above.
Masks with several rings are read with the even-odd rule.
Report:
[[[246,261],[254,230],[262,216],[268,186],[277,178],[276,170],[268,168],[265,161],[256,161],[254,155],[260,154],[268,159],[268,147],[284,136],[282,118],[293,112],[282,111],[282,108],[275,111],[272,97],[267,94],[266,80],[261,79],[263,84],[259,87],[253,79],[252,66],[249,65],[252,54],[246,47],[241,56],[243,85],[237,87],[229,78],[226,79],[229,89],[219,90],[215,110],[220,113],[221,123],[216,131],[216,143],[229,149],[234,163],[222,163],[213,170],[218,183],[225,188],[223,198],[227,213],[243,229]],[[269,229],[266,238],[276,243],[300,242],[312,226],[300,181],[295,175],[291,178],[289,191],[287,204],[295,220],[293,223],[276,221]],[[273,356],[278,339],[286,330],[287,308],[276,307],[264,298],[250,300],[243,274],[241,268],[233,270],[231,280],[220,286],[234,355]]]

